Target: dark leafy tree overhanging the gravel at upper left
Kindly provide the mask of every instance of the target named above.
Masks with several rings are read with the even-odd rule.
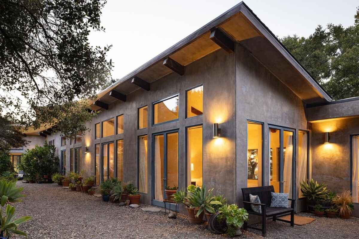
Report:
[[[72,114],[83,120],[93,115],[85,111],[88,100],[112,82],[112,61],[106,59],[111,45],[88,42],[90,30],[105,30],[100,25],[105,4],[0,1],[0,115],[35,129],[59,125]],[[65,135],[76,130],[68,128]]]

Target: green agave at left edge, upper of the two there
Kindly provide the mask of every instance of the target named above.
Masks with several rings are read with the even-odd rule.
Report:
[[[23,187],[16,187],[16,182],[0,180],[1,206],[4,206],[6,203],[21,202],[22,200],[19,198],[25,196],[20,194],[22,190],[24,190]]]

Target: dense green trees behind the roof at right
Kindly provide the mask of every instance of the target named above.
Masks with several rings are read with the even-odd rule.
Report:
[[[359,96],[359,7],[348,28],[318,25],[308,38],[280,41],[334,99]]]

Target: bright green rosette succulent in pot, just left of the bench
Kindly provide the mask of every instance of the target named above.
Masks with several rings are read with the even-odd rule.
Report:
[[[217,220],[222,222],[225,220],[227,223],[227,234],[235,236],[236,231],[240,228],[245,221],[248,221],[248,213],[244,208],[238,208],[236,204],[225,204],[219,208],[220,214]]]

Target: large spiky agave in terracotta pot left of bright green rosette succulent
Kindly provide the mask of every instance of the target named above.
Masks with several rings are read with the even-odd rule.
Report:
[[[214,201],[214,196],[212,196],[213,189],[206,192],[206,186],[196,187],[194,191],[188,191],[186,199],[188,200],[191,208],[197,208],[196,217],[203,212],[203,210],[208,211],[209,213],[215,213],[213,205],[221,205],[220,201]]]

